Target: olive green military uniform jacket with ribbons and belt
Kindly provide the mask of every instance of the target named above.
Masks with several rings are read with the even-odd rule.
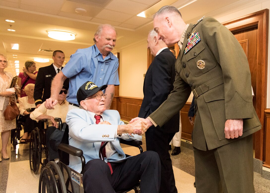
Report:
[[[197,43],[190,40],[198,39],[198,35]],[[190,49],[184,53],[186,47]],[[195,148],[206,150],[207,144],[208,149],[214,149],[261,129],[252,103],[247,57],[234,35],[220,22],[207,17],[188,26],[175,68],[174,90],[150,115],[160,127],[183,108],[193,91],[197,97],[192,134]],[[226,139],[225,121],[240,118],[243,135]]]

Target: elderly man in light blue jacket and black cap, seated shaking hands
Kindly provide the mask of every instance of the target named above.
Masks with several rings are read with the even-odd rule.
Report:
[[[156,152],[146,151],[126,157],[119,139],[139,139],[146,127],[141,120],[124,125],[118,111],[106,110],[107,87],[85,82],[77,92],[80,109],[71,109],[66,117],[69,126],[69,144],[82,149],[86,165],[83,169],[85,192],[117,192],[134,186],[140,180],[141,192],[159,192],[160,160]],[[104,142],[104,161],[99,150]],[[82,170],[79,157],[70,155],[69,165],[77,172]]]

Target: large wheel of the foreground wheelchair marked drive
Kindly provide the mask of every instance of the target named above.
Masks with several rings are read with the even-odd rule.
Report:
[[[54,161],[42,169],[39,177],[39,193],[66,193],[63,174]]]

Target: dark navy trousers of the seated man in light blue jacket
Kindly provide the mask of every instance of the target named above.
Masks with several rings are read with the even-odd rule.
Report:
[[[156,152],[145,151],[124,162],[113,163],[113,174],[101,159],[87,162],[83,170],[83,188],[86,193],[115,193],[136,185],[140,180],[141,193],[158,193],[160,160]]]

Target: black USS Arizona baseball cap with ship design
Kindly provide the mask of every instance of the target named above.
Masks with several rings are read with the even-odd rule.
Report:
[[[98,87],[97,85],[95,85],[95,83],[91,81],[85,82],[82,86],[80,86],[77,92],[78,104],[80,104],[80,102],[86,99],[87,97],[90,97],[91,95],[96,94],[99,90],[102,91],[105,88],[107,88],[107,85]]]

